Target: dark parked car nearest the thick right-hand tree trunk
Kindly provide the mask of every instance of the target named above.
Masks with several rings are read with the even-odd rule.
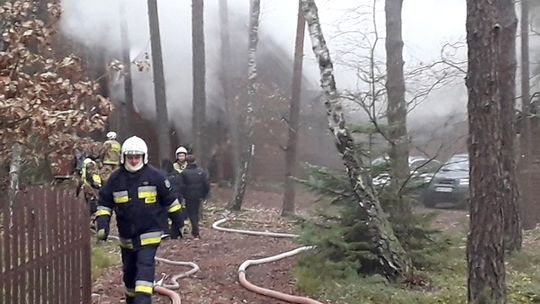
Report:
[[[435,173],[424,190],[422,201],[426,207],[444,204],[448,207],[465,207],[469,203],[469,155],[452,156]]]

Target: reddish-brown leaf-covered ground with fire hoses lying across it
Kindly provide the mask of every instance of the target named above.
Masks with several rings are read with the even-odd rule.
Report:
[[[282,194],[272,191],[247,192],[244,211],[234,216],[224,210],[230,198],[226,189],[215,188],[212,198],[206,204],[201,225],[201,239],[194,240],[185,236],[182,240],[165,240],[159,248],[158,256],[175,261],[191,261],[200,267],[196,274],[180,279],[178,290],[182,303],[225,304],[225,303],[285,303],[261,296],[244,289],[238,283],[237,270],[247,259],[258,259],[279,254],[299,247],[291,239],[249,236],[237,233],[221,232],[211,228],[212,223],[228,215],[236,219],[224,226],[272,232],[294,233],[292,222],[282,219],[279,214]],[[299,213],[308,213],[315,208],[316,197],[310,193],[297,194]],[[425,210],[420,210],[425,211]],[[431,211],[431,210],[429,210]],[[434,221],[436,228],[463,229],[466,225],[465,211],[439,210]],[[232,226],[231,226],[232,225]],[[302,295],[295,289],[294,278],[289,270],[295,258],[278,262],[252,266],[247,271],[248,280],[258,286],[274,289],[288,294]],[[162,273],[176,274],[188,268],[157,263],[156,279]],[[120,265],[108,268],[94,283],[94,304],[124,303],[122,272]],[[324,299],[318,299],[323,303]],[[154,295],[153,303],[169,303],[169,300]]]

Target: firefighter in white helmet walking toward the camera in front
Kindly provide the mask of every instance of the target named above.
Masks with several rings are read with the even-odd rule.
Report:
[[[171,237],[180,236],[182,206],[171,191],[171,183],[148,164],[148,147],[133,136],[124,142],[120,161],[99,191],[97,237],[106,240],[114,211],[120,236],[126,303],[150,304],[154,286],[154,257],[161,242],[161,221],[167,213],[172,221]]]

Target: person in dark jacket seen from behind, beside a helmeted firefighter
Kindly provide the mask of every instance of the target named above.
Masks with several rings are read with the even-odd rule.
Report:
[[[191,234],[193,238],[198,240],[199,234],[199,210],[201,202],[206,199],[210,192],[210,184],[208,182],[208,174],[197,166],[195,156],[188,155],[186,157],[187,166],[182,171],[182,187],[181,192],[186,199],[186,210],[191,222]]]

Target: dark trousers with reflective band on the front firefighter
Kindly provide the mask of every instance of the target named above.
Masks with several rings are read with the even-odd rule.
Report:
[[[127,304],[151,304],[154,289],[154,257],[157,245],[122,248],[122,270]]]

